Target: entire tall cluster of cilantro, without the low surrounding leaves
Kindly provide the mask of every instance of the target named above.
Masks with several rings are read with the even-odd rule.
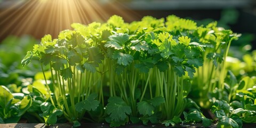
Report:
[[[214,65],[222,61],[219,53],[205,52],[205,47],[222,47],[223,42],[230,43],[230,38],[235,36],[232,31],[219,29],[216,25],[217,23],[213,22],[206,27],[197,27],[196,22],[175,15],[170,15],[166,21],[164,18],[144,17],[141,21],[126,23],[121,17],[113,15],[106,23],[73,23],[71,27],[74,30],[61,31],[56,39],[52,39],[50,35],[43,37],[41,44],[34,45],[33,51],[27,52],[22,65],[28,65],[33,57],[38,57],[44,65],[50,65],[55,88],[48,87],[48,91],[60,93],[60,99],[64,103],[56,103],[54,99],[51,101],[55,107],[64,111],[69,121],[76,122],[78,118],[72,110],[84,113],[83,110],[95,110],[99,106],[99,102],[94,99],[100,99],[104,94],[102,86],[97,89],[98,86],[94,85],[103,85],[103,79],[109,79],[110,82],[106,83],[110,85],[105,86],[109,86],[111,97],[106,113],[109,115],[108,122],[113,124],[111,126],[125,124],[129,117],[131,120],[132,117],[138,116],[138,113],[142,115],[139,119],[143,123],[153,123],[159,119],[180,116],[186,103],[183,98],[186,98],[190,91],[183,90],[183,87],[190,86],[196,69],[204,65],[205,57],[213,60]],[[142,74],[148,77],[142,77]],[[150,86],[150,89],[147,89],[147,84],[150,83],[148,81],[155,81],[150,79],[152,77],[149,74],[159,74],[157,78],[162,80],[159,80],[157,87]],[[100,82],[98,77],[101,78]],[[139,78],[136,79],[137,77]],[[84,78],[86,80],[82,80]],[[184,82],[189,78],[189,82]],[[84,81],[85,85],[82,84]],[[141,83],[146,85],[138,85]],[[128,94],[127,88],[130,91]],[[153,88],[159,88],[159,93],[156,90],[153,95]],[[151,97],[144,98],[145,91],[148,90]],[[92,92],[98,93],[99,97],[95,94],[90,96]],[[68,99],[66,93],[69,93],[70,102],[74,104],[71,108],[68,107],[69,102],[65,101]],[[83,93],[86,96],[79,98]],[[59,97],[58,94],[55,98]],[[77,97],[78,100],[74,101]],[[138,100],[139,98],[141,100]],[[158,98],[161,100],[154,100]],[[167,101],[170,99],[173,101]],[[90,104],[89,100],[93,103]],[[105,105],[103,98],[101,103]],[[175,108],[172,108],[173,106]],[[149,109],[142,110],[145,107]],[[177,109],[181,110],[177,115],[152,119],[155,111],[159,110],[158,107],[163,107],[161,112],[167,115]]]

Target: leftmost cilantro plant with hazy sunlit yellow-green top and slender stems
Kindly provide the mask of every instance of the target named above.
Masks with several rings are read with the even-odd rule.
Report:
[[[91,24],[92,27],[97,25]],[[101,63],[101,55],[99,47],[93,42],[98,39],[93,37],[96,32],[83,33],[77,26],[82,28],[81,25],[74,24],[73,27],[77,30],[61,31],[57,39],[52,40],[50,35],[44,36],[41,44],[34,45],[33,51],[28,52],[22,60],[22,65],[25,66],[31,58],[38,57],[44,77],[43,65],[50,65],[52,83],[47,82],[46,78],[45,83],[49,95],[54,94],[54,97],[49,97],[52,107],[62,110],[63,115],[74,126],[79,126],[85,111],[95,110],[99,106],[99,101],[95,98],[100,94],[98,92],[102,94],[97,86],[99,79],[96,68]],[[86,29],[94,30],[91,26]]]

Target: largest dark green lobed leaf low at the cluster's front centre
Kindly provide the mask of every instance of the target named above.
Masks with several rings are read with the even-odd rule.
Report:
[[[106,112],[110,115],[111,120],[121,122],[128,117],[127,115],[132,113],[132,110],[121,98],[110,97],[108,99]]]

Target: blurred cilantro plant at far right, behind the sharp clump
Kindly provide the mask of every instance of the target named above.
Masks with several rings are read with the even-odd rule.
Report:
[[[197,51],[203,51],[202,59],[189,60],[197,69],[191,70],[195,73],[190,96],[203,108],[210,107],[210,95],[215,89],[224,89],[224,80],[227,74],[226,58],[229,47],[238,34],[231,30],[217,27],[217,22],[209,23],[206,27],[196,26],[196,22],[182,19],[171,15],[166,18],[167,28],[173,29],[173,34],[188,36],[192,44],[201,46],[201,49],[192,50],[190,55],[199,55]],[[186,51],[184,51],[187,53]],[[204,60],[204,61],[202,61]],[[179,60],[176,60],[179,61]],[[203,63],[202,63],[203,62]],[[202,67],[199,67],[202,66]],[[189,70],[189,69],[188,69]],[[191,76],[191,73],[188,74]],[[191,78],[191,77],[190,77]],[[205,97],[207,95],[207,97]]]

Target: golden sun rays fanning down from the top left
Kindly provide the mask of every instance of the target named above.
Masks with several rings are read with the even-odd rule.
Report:
[[[129,20],[134,19],[134,15],[132,17],[130,14],[126,14],[127,11],[120,9],[120,7],[124,7],[121,4],[108,2],[97,0],[23,0],[13,2],[6,9],[1,9],[0,37],[23,34],[33,35],[37,38],[41,38],[45,34],[56,37],[59,31],[71,29],[71,23],[102,22],[115,13],[126,15]],[[102,4],[107,4],[111,11],[102,7]]]

